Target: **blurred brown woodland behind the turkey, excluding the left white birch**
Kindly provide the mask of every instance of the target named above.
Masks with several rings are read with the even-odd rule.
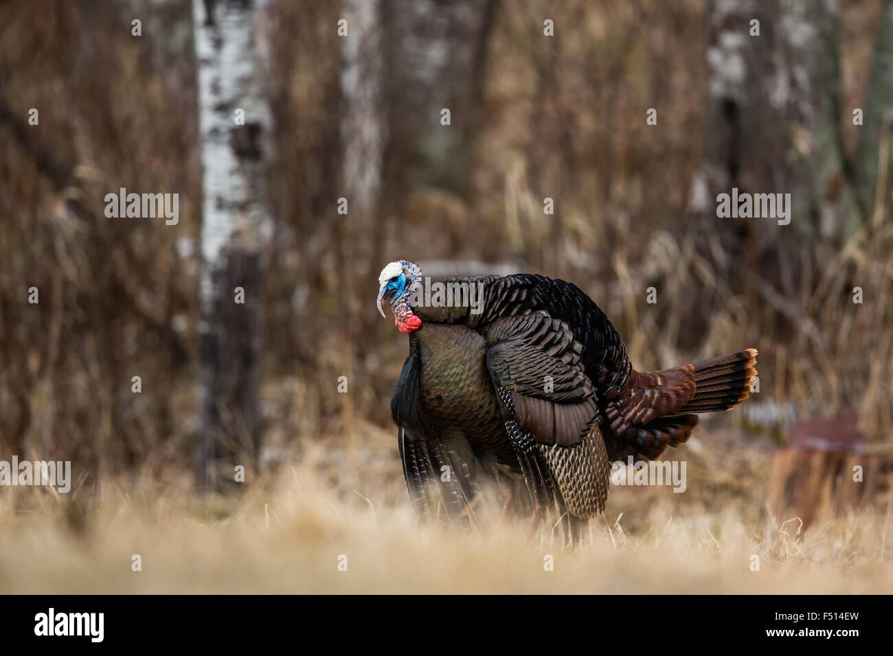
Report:
[[[258,5],[249,459],[321,447],[321,467],[380,469],[401,494],[406,340],[374,303],[398,258],[570,280],[638,370],[758,348],[759,394],[698,431],[737,431],[717,469],[798,419],[855,417],[889,447],[893,3]],[[0,1],[0,454],[72,460],[81,485],[191,469],[203,430],[193,21],[174,0]],[[106,218],[120,187],[179,193],[178,225]],[[731,187],[790,193],[790,224],[718,219]]]

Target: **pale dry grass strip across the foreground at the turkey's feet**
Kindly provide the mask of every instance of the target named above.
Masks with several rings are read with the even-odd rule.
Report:
[[[188,477],[46,489],[0,498],[0,593],[847,593],[893,586],[889,511],[827,521],[766,521],[765,454],[736,469],[724,448],[686,447],[689,491],[614,488],[578,551],[522,522],[486,533],[420,529],[394,454],[374,467],[332,463],[310,448],[298,464],[242,494],[196,497]],[[734,439],[730,437],[729,439]],[[695,453],[697,451],[697,453]],[[325,458],[323,458],[323,454]],[[340,473],[339,473],[340,472]],[[750,477],[750,478],[742,478]],[[131,570],[131,556],[142,571]],[[338,557],[347,556],[347,571]],[[544,558],[555,570],[544,570]],[[751,571],[754,555],[760,570]]]

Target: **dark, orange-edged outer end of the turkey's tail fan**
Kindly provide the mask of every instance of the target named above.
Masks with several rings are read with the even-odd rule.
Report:
[[[756,376],[756,349],[696,362],[695,395],[680,413],[730,410],[750,396]]]

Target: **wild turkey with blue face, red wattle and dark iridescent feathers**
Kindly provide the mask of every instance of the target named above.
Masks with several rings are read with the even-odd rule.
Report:
[[[610,462],[653,460],[685,442],[697,413],[738,405],[756,375],[755,349],[633,370],[605,314],[563,280],[437,282],[480,289],[479,303],[426,304],[421,269],[405,260],[390,262],[379,278],[381,315],[389,301],[396,327],[409,335],[391,411],[421,519],[474,521],[484,482],[520,472],[531,528],[554,509],[569,537],[579,537],[605,509]]]

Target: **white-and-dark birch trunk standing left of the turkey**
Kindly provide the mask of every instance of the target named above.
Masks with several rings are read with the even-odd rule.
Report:
[[[196,477],[215,488],[236,479],[235,466],[252,469],[259,447],[261,228],[271,120],[257,26],[265,4],[193,2],[204,168]]]

